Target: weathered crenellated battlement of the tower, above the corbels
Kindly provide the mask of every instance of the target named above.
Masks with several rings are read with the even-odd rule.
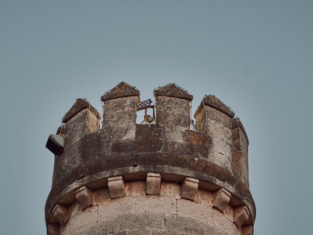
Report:
[[[248,139],[240,119],[217,97],[205,95],[194,114],[195,130],[191,130],[191,94],[168,84],[156,88],[154,96],[155,124],[137,124],[140,92],[119,83],[101,96],[101,128],[99,112],[88,100],[76,100],[57,130],[65,143],[62,155],[55,156],[45,208],[47,223],[55,222],[49,222],[55,205],[71,205],[76,200],[77,188],[103,188],[108,177],[137,180],[157,172],[181,187],[184,177],[191,177],[203,190],[224,188],[232,207],[246,206],[249,219],[245,223],[253,225]]]

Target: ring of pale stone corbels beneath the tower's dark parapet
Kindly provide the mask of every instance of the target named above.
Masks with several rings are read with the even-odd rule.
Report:
[[[172,198],[175,197],[177,200],[180,198],[183,199],[188,199],[188,200],[180,200],[177,201],[178,203],[182,203],[183,205],[193,205],[195,206],[195,208],[197,208],[199,205],[206,205],[207,209],[212,210],[212,207],[218,209],[218,210],[213,210],[216,211],[215,213],[218,213],[220,216],[225,216],[229,221],[232,221],[234,224],[236,224],[236,226],[238,227],[238,229],[241,231],[243,231],[243,233],[241,233],[241,235],[252,235],[250,233],[250,231],[253,232],[251,223],[253,223],[253,221],[250,221],[248,217],[250,217],[249,212],[247,211],[247,207],[246,206],[241,206],[241,207],[233,207],[232,202],[230,202],[230,204],[226,204],[228,201],[228,196],[231,197],[233,196],[232,194],[230,194],[230,192],[224,188],[220,188],[219,190],[215,189],[203,189],[203,188],[199,188],[200,185],[198,184],[198,179],[195,178],[189,178],[189,177],[185,177],[183,183],[179,186],[179,184],[177,182],[180,182],[181,178],[175,178],[173,175],[173,178],[171,178],[172,175],[167,175],[164,176],[162,173],[148,173],[148,174],[140,174],[140,177],[137,176],[128,176],[126,177],[125,175],[123,175],[123,177],[125,177],[126,183],[124,183],[123,177],[122,176],[115,176],[115,177],[110,177],[110,179],[108,179],[108,183],[103,184],[103,182],[101,184],[98,185],[97,188],[92,188],[91,189],[87,188],[86,186],[82,186],[78,189],[73,189],[72,194],[73,194],[73,200],[76,200],[76,203],[78,202],[79,204],[81,202],[79,202],[79,198],[80,196],[78,196],[78,194],[82,193],[81,198],[84,198],[86,196],[86,194],[88,194],[88,192],[91,191],[92,194],[98,195],[97,199],[96,196],[94,197],[95,201],[93,202],[92,206],[96,206],[98,205],[98,203],[100,201],[105,201],[107,200],[108,203],[111,203],[109,201],[110,200],[110,194],[111,194],[111,199],[114,198],[112,197],[112,192],[121,192],[119,194],[118,197],[123,197],[124,195],[126,196],[125,198],[121,198],[121,201],[124,200],[131,200],[133,202],[135,202],[137,200],[137,202],[141,202],[141,201],[145,201],[145,200],[149,200],[150,202],[154,201],[154,200],[163,200],[162,197],[165,198]],[[164,186],[165,190],[162,191],[162,193],[160,193],[160,196],[153,196],[156,194],[153,194],[151,196],[148,196],[149,194],[147,193],[147,187],[149,188],[149,184],[152,185],[153,187],[155,187],[152,190],[155,190],[157,188],[158,185],[158,181],[161,180],[162,177],[162,181],[160,181],[160,186],[163,187]],[[144,181],[144,179],[146,181]],[[151,180],[151,182],[149,182]],[[125,186],[124,186],[125,184]],[[166,187],[167,185],[167,187]],[[104,188],[102,188],[101,186],[103,186]],[[109,186],[109,188],[107,188]],[[112,188],[113,186],[113,188]],[[123,186],[125,188],[125,190],[123,189]],[[138,187],[140,186],[140,187]],[[173,186],[175,186],[173,188]],[[115,188],[114,188],[115,187]],[[146,188],[145,188],[146,187]],[[203,186],[202,186],[203,187]],[[91,187],[90,187],[91,188]],[[139,188],[139,190],[138,190]],[[97,191],[99,189],[99,191]],[[105,189],[105,190],[104,190]],[[117,190],[115,190],[117,189]],[[215,191],[213,191],[215,190]],[[149,189],[148,189],[149,191]],[[175,192],[174,192],[175,191]],[[208,191],[208,193],[205,193],[205,191]],[[212,192],[213,191],[213,192]],[[74,193],[75,192],[75,193]],[[85,194],[86,192],[86,194]],[[105,192],[106,195],[102,195]],[[124,193],[123,193],[124,192]],[[139,192],[139,193],[138,193]],[[174,193],[173,193],[174,192]],[[110,193],[110,194],[109,194]],[[99,197],[99,195],[102,195]],[[148,195],[146,195],[148,194]],[[202,199],[204,199],[204,201],[199,201],[196,198],[193,199],[193,195],[199,199],[199,197],[201,196]],[[205,195],[205,196],[204,196]],[[134,199],[134,197],[136,197],[136,199]],[[117,197],[115,197],[117,198]],[[225,199],[226,198],[226,199]],[[71,203],[74,203],[74,201],[72,201]],[[84,200],[83,200],[84,201]],[[112,203],[115,200],[112,200]],[[75,205],[77,205],[75,203]],[[118,203],[118,200],[117,200]],[[195,203],[195,204],[193,204]],[[146,204],[145,204],[146,205]],[[217,206],[218,205],[218,206]],[[223,205],[226,207],[226,209],[222,210],[220,205]],[[65,206],[65,205],[60,205],[58,204],[58,210],[60,210],[61,207],[66,207],[66,209],[70,209],[73,210],[74,207],[72,206]],[[231,207],[231,209],[229,209]],[[76,209],[74,209],[74,215],[71,216],[75,216],[75,214],[77,213],[77,210],[79,210],[79,213],[83,213],[84,212],[84,208],[82,208],[81,206],[76,207]],[[207,210],[206,209],[206,210]],[[56,209],[55,209],[56,210]],[[52,212],[55,213],[55,210],[53,210]],[[64,210],[63,210],[64,211]],[[88,210],[89,211],[89,210]],[[92,211],[92,210],[90,210]],[[222,212],[220,212],[222,211]],[[186,213],[189,213],[188,211],[185,211]],[[70,215],[72,212],[68,211],[68,214]],[[59,221],[62,220],[63,217],[66,217],[65,215],[63,215],[64,212],[62,213],[62,216],[57,216],[57,214],[55,214],[55,216],[53,216],[55,218],[55,220],[48,222],[48,225],[52,225],[50,226],[50,230],[51,230],[51,234],[48,233],[48,235],[55,235],[55,233],[57,233],[57,227],[53,227],[53,225],[59,225]],[[58,219],[57,219],[58,217]],[[67,221],[66,221],[67,222]],[[61,223],[61,222],[60,222]],[[64,223],[63,223],[64,224]],[[65,225],[67,226],[67,224],[69,225],[69,223],[66,223]],[[71,223],[70,223],[71,224]],[[47,226],[48,226],[47,225]],[[64,227],[64,225],[62,225]],[[249,226],[251,228],[249,228]],[[62,231],[63,231],[63,227]],[[56,232],[53,232],[53,231]],[[47,231],[49,231],[49,228],[47,228]],[[53,233],[52,233],[53,232]]]

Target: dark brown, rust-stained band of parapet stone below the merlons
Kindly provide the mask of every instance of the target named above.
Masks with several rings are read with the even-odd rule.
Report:
[[[141,129],[145,130],[141,131]],[[145,138],[146,132],[149,133],[147,138]],[[193,135],[202,135],[190,132],[187,136],[183,136],[183,138],[187,139],[184,141],[186,144],[183,143],[180,146],[181,150],[177,149],[177,143],[172,145],[164,144],[163,146],[168,146],[167,152],[158,153],[158,151],[162,151],[162,148],[160,148],[162,141],[169,141],[163,140],[160,132],[162,132],[162,128],[157,125],[136,125],[134,133],[138,136],[134,138],[134,142],[117,141],[113,145],[113,142],[107,142],[110,139],[109,137],[102,138],[103,135],[107,135],[106,132],[103,132],[89,134],[70,146],[67,145],[68,147],[65,148],[62,157],[57,158],[55,161],[54,180],[49,198],[54,199],[61,190],[76,179],[82,179],[97,172],[129,167],[133,172],[177,173],[177,170],[172,172],[168,170],[171,169],[170,167],[174,167],[173,169],[178,169],[177,167],[179,167],[184,170],[184,174],[188,171],[194,172],[192,173],[193,175],[187,174],[191,177],[197,175],[196,178],[205,181],[211,181],[214,178],[227,182],[229,189],[235,187],[231,189],[233,193],[239,197],[244,196],[242,200],[247,200],[246,203],[249,202],[250,205],[253,205],[248,188],[245,187],[244,183],[240,183],[242,180],[236,178],[236,175],[232,175],[223,165],[219,166],[214,162],[210,163],[210,158],[205,157],[209,153],[209,148],[205,147],[205,145],[210,144],[209,139],[195,138]],[[208,141],[208,143],[205,141]],[[118,142],[120,144],[116,145]],[[145,152],[146,147],[149,152]],[[121,152],[121,150],[123,151]],[[121,153],[118,153],[118,151]],[[181,151],[185,154],[176,154],[174,151]],[[194,151],[198,153],[196,154]],[[202,157],[199,155],[201,152],[205,154]],[[90,156],[92,157],[90,158]],[[240,170],[240,167],[238,169]],[[66,174],[69,171],[72,173]],[[217,181],[213,182],[217,183]],[[237,182],[236,186],[235,182]],[[223,185],[223,187],[225,186]],[[236,190],[238,190],[238,193]],[[53,206],[55,202],[52,200],[51,203]],[[47,205],[50,205],[50,199],[47,200]],[[253,207],[251,208],[252,211],[254,210]]]

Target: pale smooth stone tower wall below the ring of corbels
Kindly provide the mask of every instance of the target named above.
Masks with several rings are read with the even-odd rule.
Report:
[[[130,188],[136,188],[138,182],[134,181],[134,187]],[[94,195],[105,192],[98,189]],[[134,235],[239,235],[236,225],[211,205],[162,195],[133,194],[114,200],[107,196],[102,199],[98,197],[98,203],[85,210],[71,208],[61,235],[123,232]]]

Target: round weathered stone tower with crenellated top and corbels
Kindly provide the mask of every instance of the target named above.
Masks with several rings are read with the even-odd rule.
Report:
[[[101,129],[85,99],[63,117],[53,135],[64,143],[54,149],[47,234],[252,235],[248,138],[239,118],[205,95],[191,130],[193,96],[168,84],[154,90],[156,122],[136,124],[139,94],[124,82],[105,93]]]

